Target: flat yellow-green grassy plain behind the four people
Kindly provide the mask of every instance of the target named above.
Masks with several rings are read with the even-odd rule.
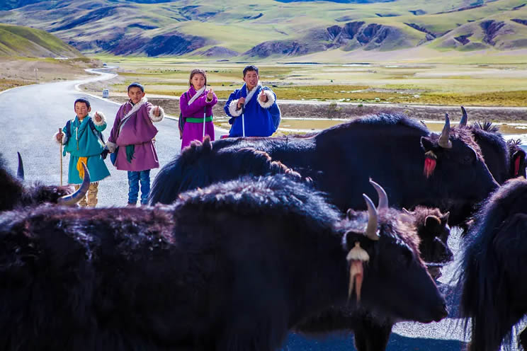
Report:
[[[188,62],[180,59],[98,57],[119,67],[120,79],[110,87],[124,93],[140,81],[152,95],[181,96],[191,69],[208,72],[208,85],[219,98],[242,86],[246,62]],[[509,62],[510,57],[502,57]],[[479,64],[428,62],[372,62],[362,64],[258,63],[263,84],[281,100],[334,100],[352,103],[423,105],[524,106],[527,101],[527,63],[499,62],[480,56]],[[459,59],[462,61],[462,59]],[[513,59],[514,61],[514,59]],[[100,91],[100,86],[87,86]]]

